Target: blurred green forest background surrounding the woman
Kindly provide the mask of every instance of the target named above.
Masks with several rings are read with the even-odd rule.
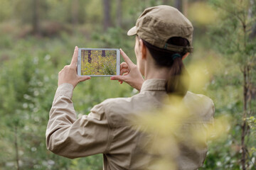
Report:
[[[0,0],[0,169],[102,169],[101,154],[71,160],[46,149],[58,72],[75,45],[122,47],[136,63],[127,30],[144,8],[161,4],[195,28],[185,64],[198,84],[190,90],[213,99],[215,118],[230,120],[208,142],[202,169],[256,169],[255,0]],[[79,117],[106,98],[136,93],[93,78],[78,84],[73,101]]]

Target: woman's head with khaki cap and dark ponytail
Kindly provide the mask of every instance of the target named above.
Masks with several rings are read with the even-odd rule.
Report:
[[[166,91],[184,96],[188,84],[181,78],[186,74],[182,59],[192,52],[193,26],[176,8],[154,6],[146,8],[136,26],[127,35],[137,35],[135,53],[140,72],[144,74],[146,51],[154,60],[154,66],[168,70]],[[144,50],[144,52],[142,52]]]

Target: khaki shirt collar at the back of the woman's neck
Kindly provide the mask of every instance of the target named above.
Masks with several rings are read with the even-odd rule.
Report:
[[[147,79],[142,84],[142,91],[165,91],[165,79]]]

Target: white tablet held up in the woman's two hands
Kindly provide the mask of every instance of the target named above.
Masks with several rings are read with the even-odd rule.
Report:
[[[120,50],[79,48],[78,76],[112,77],[120,74]]]

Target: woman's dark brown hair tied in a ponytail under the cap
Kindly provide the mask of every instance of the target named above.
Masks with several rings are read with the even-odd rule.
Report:
[[[156,65],[159,67],[170,68],[169,79],[167,79],[165,86],[166,92],[168,94],[174,94],[182,97],[185,96],[188,91],[188,81],[185,81],[185,78],[188,77],[188,72],[183,65],[182,56],[186,55],[186,52],[164,50],[149,44],[149,42],[146,42],[145,40],[143,40],[143,42],[149,49]],[[183,47],[188,46],[188,40],[185,38],[170,38],[167,43]]]

